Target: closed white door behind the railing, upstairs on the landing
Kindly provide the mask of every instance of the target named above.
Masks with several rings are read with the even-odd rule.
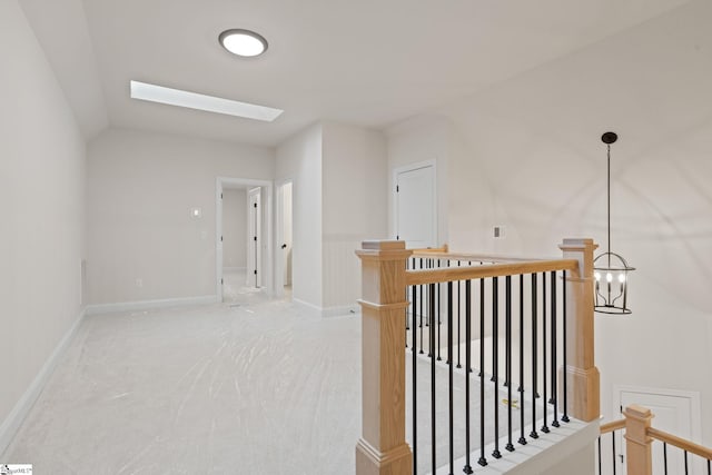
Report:
[[[436,246],[435,167],[396,170],[396,239],[408,248]]]

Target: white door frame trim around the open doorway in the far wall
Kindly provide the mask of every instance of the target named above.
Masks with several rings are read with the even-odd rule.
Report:
[[[263,286],[274,294],[273,280],[273,182],[253,178],[216,177],[215,180],[215,294],[218,303],[222,301],[222,191],[225,188],[263,188]]]

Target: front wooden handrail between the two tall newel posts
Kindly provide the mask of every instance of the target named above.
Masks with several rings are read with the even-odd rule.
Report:
[[[521,274],[546,273],[551,270],[573,270],[578,267],[575,259],[528,260],[510,264],[492,264],[487,266],[443,267],[439,269],[407,270],[406,285],[424,285],[446,283],[451,280],[469,280],[487,277],[517,276]]]

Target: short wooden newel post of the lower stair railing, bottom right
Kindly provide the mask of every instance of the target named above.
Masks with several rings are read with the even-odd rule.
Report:
[[[627,475],[650,475],[653,473],[652,443],[647,435],[653,413],[632,404],[623,412],[625,416],[625,455]]]

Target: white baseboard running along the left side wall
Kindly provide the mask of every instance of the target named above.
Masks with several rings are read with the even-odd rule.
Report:
[[[85,308],[81,310],[71,328],[69,328],[59,344],[55,347],[52,354],[49,356],[49,358],[47,358],[47,362],[44,362],[44,365],[37,374],[37,376],[34,376],[34,379],[32,379],[30,386],[27,388],[24,394],[22,394],[10,414],[8,414],[8,417],[2,422],[2,425],[0,425],[0,461],[8,459],[8,449],[10,448],[12,439],[17,435],[20,425],[22,425],[22,422],[30,413],[30,409],[37,402],[37,398],[42,393],[42,389],[44,388],[44,385],[47,384],[49,377],[52,375],[52,372],[55,370],[59,358],[62,356],[62,354],[66,352],[67,347],[73,339],[75,334],[77,333],[77,328],[79,328],[79,325],[85,319],[86,315],[87,309]]]

